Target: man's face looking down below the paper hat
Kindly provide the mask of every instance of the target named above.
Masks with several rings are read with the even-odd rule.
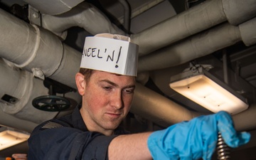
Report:
[[[126,117],[134,95],[135,78],[95,70],[85,82],[82,117],[92,131],[114,130]]]

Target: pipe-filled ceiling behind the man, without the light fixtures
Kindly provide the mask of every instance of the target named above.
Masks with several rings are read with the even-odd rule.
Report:
[[[249,104],[247,111],[233,115],[233,118],[239,130],[251,132],[252,139],[250,144],[236,149],[232,155],[235,159],[256,159],[253,153],[256,147],[255,0],[244,1],[245,7],[235,10],[240,16],[225,8],[239,6],[239,1],[233,1],[235,5],[220,0],[66,0],[65,5],[63,3],[57,0],[0,0],[0,8],[4,11],[0,15],[11,21],[6,24],[7,29],[0,27],[0,55],[8,60],[1,60],[2,68],[7,68],[0,70],[7,81],[0,81],[1,88],[4,88],[0,90],[1,96],[18,97],[16,90],[21,89],[14,87],[19,83],[23,84],[21,88],[26,88],[33,81],[39,88],[31,87],[31,97],[22,95],[17,98],[21,99],[19,102],[28,99],[25,105],[25,102],[17,102],[6,106],[3,102],[6,99],[2,96],[2,126],[31,132],[36,124],[71,112],[80,102],[80,97],[75,93],[74,80],[70,78],[78,71],[85,36],[119,33],[129,35],[131,41],[139,45],[137,93],[129,114],[129,124],[124,124],[127,128],[134,132],[161,129],[200,114],[212,113],[169,87],[170,78],[182,73],[191,64],[212,65],[209,73],[228,83]],[[222,4],[224,9],[220,7]],[[221,14],[223,11],[225,14]],[[31,30],[32,36],[40,31],[41,38],[46,40],[46,44],[40,41],[38,51],[31,51],[31,54],[30,50],[34,50],[37,44],[34,41],[38,40],[29,37],[25,33],[28,30]],[[7,34],[9,31],[11,33]],[[25,39],[28,42],[23,42]],[[34,59],[31,60],[31,57]],[[59,59],[65,63],[61,61],[58,65]],[[16,75],[11,77],[14,73]],[[28,77],[31,81],[14,80],[21,77]],[[43,78],[46,78],[44,82]],[[55,95],[67,95],[73,107],[50,114],[35,109],[31,101],[35,97],[48,95],[49,86],[53,86]],[[13,105],[14,108],[11,108]],[[17,152],[25,153],[27,147],[27,142],[24,142],[0,151],[0,159]]]

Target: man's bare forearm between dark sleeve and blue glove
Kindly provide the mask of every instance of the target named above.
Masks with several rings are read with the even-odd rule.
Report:
[[[120,135],[112,139],[108,148],[109,160],[152,159],[147,146],[151,132]]]

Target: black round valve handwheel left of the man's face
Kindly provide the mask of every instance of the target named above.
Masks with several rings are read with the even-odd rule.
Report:
[[[55,112],[65,110],[70,107],[70,101],[65,97],[45,95],[34,98],[32,105],[38,110]]]

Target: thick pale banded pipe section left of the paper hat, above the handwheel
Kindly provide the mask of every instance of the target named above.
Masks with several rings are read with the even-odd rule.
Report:
[[[0,21],[1,58],[76,88],[75,80],[70,78],[75,78],[79,70],[80,52],[63,44],[53,33],[31,26],[1,9]]]

